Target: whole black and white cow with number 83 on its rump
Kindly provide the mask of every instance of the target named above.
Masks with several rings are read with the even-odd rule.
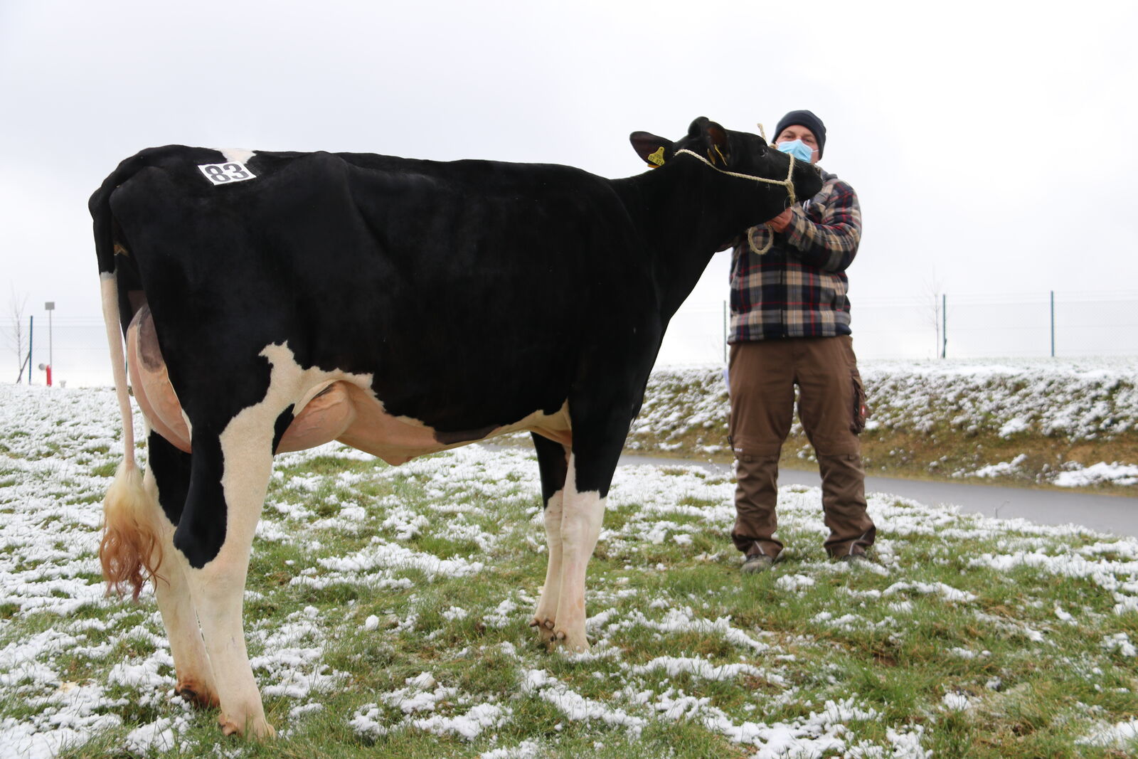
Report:
[[[126,449],[104,572],[135,596],[156,579],[178,690],[226,733],[273,733],[241,601],[281,451],[336,439],[402,463],[529,430],[550,548],[533,624],[587,647],[586,564],[668,320],[717,248],[822,184],[707,118],[632,142],[658,168],[619,180],[172,146],[91,197]]]

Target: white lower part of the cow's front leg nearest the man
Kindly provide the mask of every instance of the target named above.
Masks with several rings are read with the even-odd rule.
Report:
[[[604,498],[596,490],[577,492],[576,456],[569,457],[561,517],[561,594],[554,635],[570,651],[587,651],[585,577],[604,519]]]

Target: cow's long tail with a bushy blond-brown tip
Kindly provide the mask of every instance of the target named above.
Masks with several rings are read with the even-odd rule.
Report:
[[[102,288],[102,320],[107,327],[115,394],[123,420],[124,455],[102,501],[99,562],[107,580],[107,592],[123,594],[130,587],[132,597],[137,600],[147,579],[158,577],[162,543],[154,525],[154,504],[142,486],[142,472],[134,459],[134,418],[126,391],[126,361],[115,277],[115,240],[109,203],[110,190],[114,189],[112,179],[92,196],[91,215],[94,217],[94,247]]]

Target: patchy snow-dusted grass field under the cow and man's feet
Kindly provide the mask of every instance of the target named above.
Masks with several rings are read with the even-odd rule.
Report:
[[[116,415],[106,390],[0,388],[0,757],[1138,754],[1136,539],[873,494],[876,563],[850,568],[787,487],[786,560],[742,577],[729,480],[627,468],[593,650],[566,655],[527,626],[536,461],[477,446],[278,457],[246,629],[280,735],[223,739],[171,695],[152,596],[104,596]]]

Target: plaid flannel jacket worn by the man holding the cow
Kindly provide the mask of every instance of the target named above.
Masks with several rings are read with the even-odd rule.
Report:
[[[736,241],[728,343],[850,333],[846,269],[861,239],[861,209],[853,188],[835,174],[822,178],[822,191],[793,207],[785,232],[749,230],[759,249],[774,236],[767,253],[753,253],[747,234]]]

